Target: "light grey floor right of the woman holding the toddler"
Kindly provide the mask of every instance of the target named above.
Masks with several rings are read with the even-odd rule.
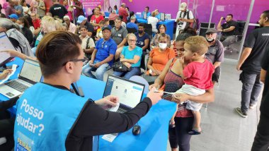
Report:
[[[236,61],[225,60],[219,85],[214,87],[215,101],[202,107],[202,135],[191,138],[192,151],[245,151],[251,150],[258,124],[259,104],[241,118],[234,111],[240,107],[241,82]],[[167,150],[171,150],[169,144]]]

